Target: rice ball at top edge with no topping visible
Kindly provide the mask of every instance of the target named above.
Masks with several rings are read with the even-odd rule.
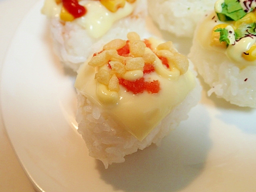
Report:
[[[196,24],[216,0],[148,0],[148,13],[160,29],[192,37]]]

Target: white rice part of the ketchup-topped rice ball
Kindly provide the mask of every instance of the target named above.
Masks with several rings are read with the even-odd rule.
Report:
[[[83,4],[80,1],[80,4]],[[87,0],[88,1],[88,0]],[[50,19],[50,31],[56,55],[64,66],[78,70],[88,56],[96,52],[103,44],[113,38],[126,38],[130,31],[137,32],[141,36],[145,32],[145,20],[147,16],[146,0],[137,0],[134,12],[113,24],[113,26],[100,38],[93,38],[86,28],[76,22],[63,22],[59,18]]]

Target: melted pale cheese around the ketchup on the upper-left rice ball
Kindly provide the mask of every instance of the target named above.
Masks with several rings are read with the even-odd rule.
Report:
[[[111,28],[115,21],[130,15],[136,6],[136,2],[126,2],[124,7],[118,8],[116,12],[111,12],[100,1],[81,0],[79,4],[86,7],[87,12],[84,16],[76,18],[72,22],[86,29],[91,37],[100,38]],[[56,4],[55,0],[45,0],[41,12],[49,18],[58,18],[61,10],[62,4]]]

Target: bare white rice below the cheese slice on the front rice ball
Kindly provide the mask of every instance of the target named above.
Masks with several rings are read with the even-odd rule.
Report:
[[[190,62],[190,70],[192,67]],[[196,72],[194,75],[196,76]],[[152,143],[160,145],[164,136],[188,118],[188,112],[201,98],[201,91],[200,82],[196,79],[196,87],[188,93],[185,100],[173,108],[142,141],[127,130],[120,129],[112,119],[106,119],[100,108],[78,91],[78,132],[86,142],[89,155],[102,161],[105,168],[108,168],[112,163],[124,162],[124,156],[138,149],[143,150]]]

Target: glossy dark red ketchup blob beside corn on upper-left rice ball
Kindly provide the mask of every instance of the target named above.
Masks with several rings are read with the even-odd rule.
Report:
[[[84,6],[78,4],[78,0],[62,0],[62,4],[74,18],[82,17],[87,12]]]

